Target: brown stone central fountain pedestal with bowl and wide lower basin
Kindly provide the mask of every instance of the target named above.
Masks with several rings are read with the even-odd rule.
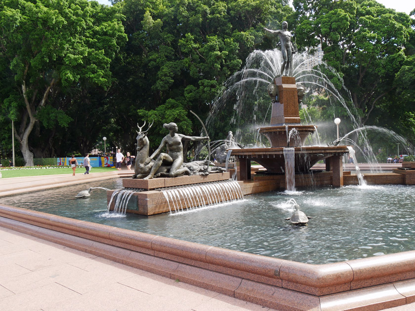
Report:
[[[316,128],[313,125],[300,124],[298,94],[302,95],[303,87],[297,85],[293,77],[275,78],[270,86],[268,94],[273,98],[271,124],[269,127],[260,128],[259,133],[268,138],[271,148],[233,150],[232,155],[238,161],[238,180],[251,179],[251,161],[265,167],[269,174],[285,174],[284,150],[291,147],[294,149],[295,172],[307,173],[315,163],[325,159],[326,171],[330,172],[330,184],[334,187],[343,186],[342,156],[349,152],[347,147],[304,146],[306,138]],[[325,177],[323,185],[328,184],[327,174]]]

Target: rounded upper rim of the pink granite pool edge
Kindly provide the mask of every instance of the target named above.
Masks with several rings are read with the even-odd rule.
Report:
[[[123,243],[144,249],[174,255],[183,262],[196,260],[228,269],[255,273],[275,279],[282,279],[313,288],[327,288],[350,284],[366,279],[382,279],[385,276],[404,272],[415,272],[415,251],[382,255],[346,262],[312,265],[278,258],[249,254],[239,251],[211,247],[149,233],[134,232],[102,224],[79,221],[43,212],[0,205],[0,216],[42,228],[53,227],[54,231],[72,235],[82,233],[83,237],[105,242],[109,245]],[[81,231],[81,232],[80,232]],[[405,275],[405,274],[403,274]],[[309,292],[305,290],[304,292]]]

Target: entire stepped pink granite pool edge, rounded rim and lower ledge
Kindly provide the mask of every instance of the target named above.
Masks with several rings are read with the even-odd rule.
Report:
[[[310,265],[4,205],[0,226],[278,310],[415,300],[415,251]]]

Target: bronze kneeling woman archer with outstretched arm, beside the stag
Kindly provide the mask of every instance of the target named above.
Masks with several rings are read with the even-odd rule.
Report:
[[[144,179],[152,179],[157,174],[160,167],[163,165],[170,166],[168,172],[169,177],[177,177],[181,175],[192,175],[192,171],[187,167],[183,167],[183,144],[182,140],[190,141],[202,141],[209,139],[208,136],[186,136],[183,134],[177,134],[177,124],[170,122],[163,124],[163,127],[170,131],[160,143],[159,148],[144,161],[144,165],[149,164],[155,157],[157,157],[154,165],[152,166],[150,173]],[[164,148],[167,148],[167,153],[162,153]],[[166,173],[160,174],[161,176],[167,175]],[[156,176],[157,177],[157,176]]]

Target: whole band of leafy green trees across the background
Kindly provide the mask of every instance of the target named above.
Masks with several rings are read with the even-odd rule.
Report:
[[[200,134],[189,110],[206,119],[248,55],[278,45],[263,27],[279,29],[284,20],[300,50],[321,43],[359,124],[415,141],[415,19],[405,13],[374,0],[294,0],[295,11],[287,0],[112,3],[0,2],[0,153],[11,149],[11,120],[27,165],[33,156],[84,154],[102,136],[134,153],[144,120],[154,120],[153,148],[166,135],[163,123]],[[228,100],[212,139],[236,130],[227,121],[236,99]]]

